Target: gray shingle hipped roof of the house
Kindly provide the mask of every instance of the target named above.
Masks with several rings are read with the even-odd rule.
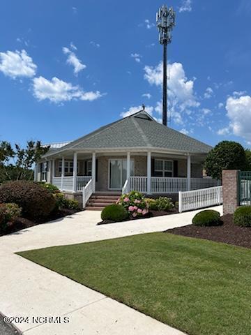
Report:
[[[211,147],[155,121],[144,110],[98,128],[58,151],[88,149],[160,148],[206,154]],[[55,151],[54,151],[55,152]]]

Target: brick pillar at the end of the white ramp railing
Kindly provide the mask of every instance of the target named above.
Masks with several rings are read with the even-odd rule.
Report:
[[[222,171],[223,214],[233,214],[238,207],[238,170]]]

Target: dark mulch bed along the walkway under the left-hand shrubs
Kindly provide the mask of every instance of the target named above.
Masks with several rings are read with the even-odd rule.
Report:
[[[8,226],[4,234],[0,233],[0,236],[10,234],[11,232],[18,232],[24,228],[33,227],[33,225],[40,225],[41,223],[47,223],[49,221],[56,220],[57,218],[63,218],[64,216],[68,216],[71,214],[75,214],[77,211],[75,209],[61,209],[47,218],[40,218],[36,221],[31,221],[28,218],[17,218],[11,225]]]

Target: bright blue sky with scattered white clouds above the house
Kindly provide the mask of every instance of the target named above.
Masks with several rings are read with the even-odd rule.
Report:
[[[1,1],[0,140],[74,140],[137,111],[161,119],[162,1]],[[251,3],[178,0],[169,125],[251,143]],[[126,136],[126,134],[121,134]]]

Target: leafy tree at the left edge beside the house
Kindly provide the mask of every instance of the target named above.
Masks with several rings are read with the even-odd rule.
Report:
[[[40,141],[29,141],[25,148],[9,142],[0,142],[0,182],[6,180],[33,179],[33,164],[47,153],[50,146],[42,146]]]

